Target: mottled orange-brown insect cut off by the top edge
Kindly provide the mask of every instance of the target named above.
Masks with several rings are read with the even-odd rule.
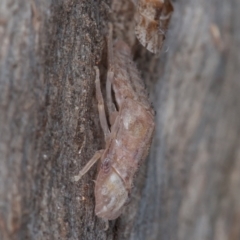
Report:
[[[158,53],[165,39],[173,6],[170,0],[139,0],[135,34],[152,53]]]

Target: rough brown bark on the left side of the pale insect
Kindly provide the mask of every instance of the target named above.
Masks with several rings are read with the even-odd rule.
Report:
[[[93,66],[106,8],[21,0],[0,9],[0,239],[107,239],[93,211],[95,171],[70,182],[101,147]]]

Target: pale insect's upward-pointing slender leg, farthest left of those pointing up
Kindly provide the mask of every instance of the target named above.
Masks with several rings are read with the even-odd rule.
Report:
[[[108,139],[110,131],[108,128],[108,123],[107,123],[107,118],[106,118],[104,101],[103,101],[103,96],[102,96],[102,91],[101,91],[101,86],[100,86],[100,77],[99,77],[98,67],[95,67],[95,70],[96,70],[95,84],[96,84],[96,95],[97,95],[97,101],[98,101],[98,113],[99,113],[99,119],[100,119],[101,127],[104,132],[104,137],[105,137],[105,141],[106,141]]]

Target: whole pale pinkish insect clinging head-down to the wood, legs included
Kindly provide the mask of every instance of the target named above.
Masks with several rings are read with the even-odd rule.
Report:
[[[100,88],[99,70],[96,68],[98,111],[106,147],[97,151],[73,178],[78,181],[101,159],[95,181],[95,213],[104,220],[115,219],[122,213],[129,198],[133,177],[148,154],[155,125],[154,111],[133,63],[130,48],[122,41],[117,41],[113,47],[112,26],[108,37],[108,61],[106,97],[110,129]]]

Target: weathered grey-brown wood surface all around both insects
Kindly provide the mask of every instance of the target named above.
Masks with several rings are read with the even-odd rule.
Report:
[[[240,2],[175,1],[160,59],[135,41],[132,2],[114,2],[0,4],[0,239],[238,240]],[[96,167],[70,177],[104,146],[93,66],[105,62],[108,15],[157,128],[132,201],[104,232]]]

